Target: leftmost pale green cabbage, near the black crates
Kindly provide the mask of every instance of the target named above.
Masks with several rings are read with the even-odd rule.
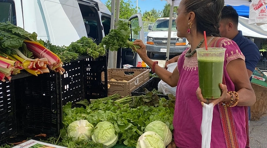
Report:
[[[67,127],[67,136],[72,137],[73,141],[81,140],[88,141],[91,140],[91,134],[94,126],[87,120],[77,120],[70,123]]]

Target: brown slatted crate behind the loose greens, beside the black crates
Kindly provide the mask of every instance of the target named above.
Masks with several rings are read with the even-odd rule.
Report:
[[[109,96],[115,93],[120,94],[122,97],[131,95],[132,91],[150,79],[148,69],[110,68],[107,70],[107,75],[108,84],[110,84],[108,89]],[[112,79],[116,81],[111,81]],[[102,80],[104,80],[103,75]]]

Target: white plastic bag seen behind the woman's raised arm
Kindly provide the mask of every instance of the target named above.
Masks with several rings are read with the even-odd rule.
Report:
[[[177,66],[177,63],[171,63],[167,65],[167,70],[170,72],[173,72],[174,68]],[[158,83],[158,91],[162,92],[163,94],[167,95],[167,94],[173,94],[174,96],[176,96],[176,86],[175,87],[171,87],[170,85],[168,85],[166,82],[164,81],[160,81]]]

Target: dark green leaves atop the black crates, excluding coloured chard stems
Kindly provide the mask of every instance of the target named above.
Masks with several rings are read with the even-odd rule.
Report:
[[[33,53],[30,52],[24,41],[36,41],[44,45],[47,49],[54,52],[63,63],[69,63],[71,60],[78,59],[78,56],[89,55],[93,58],[105,55],[106,50],[96,43],[91,38],[83,36],[76,42],[72,42],[67,46],[57,46],[46,40],[37,40],[35,32],[29,33],[23,28],[7,23],[0,23],[0,54],[16,54],[13,49],[19,49],[26,57],[32,58]]]

